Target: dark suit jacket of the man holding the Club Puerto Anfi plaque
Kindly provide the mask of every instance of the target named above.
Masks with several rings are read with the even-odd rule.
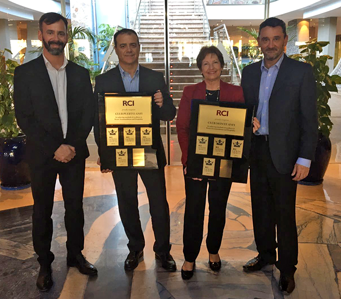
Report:
[[[160,89],[163,95],[163,105],[159,107],[153,101],[152,103],[152,123],[153,123],[153,144],[156,147],[157,163],[159,167],[166,165],[166,157],[160,135],[160,120],[169,121],[176,115],[176,107],[173,104],[172,97],[169,96],[166,84],[161,72],[143,67],[139,68],[139,92],[147,92],[154,94]],[[96,85],[94,96],[97,101],[99,92],[125,92],[123,80],[119,67],[110,69],[109,71],[96,77]],[[98,124],[98,105],[96,104],[96,115],[94,124],[94,134],[97,145],[99,145],[99,124]]]

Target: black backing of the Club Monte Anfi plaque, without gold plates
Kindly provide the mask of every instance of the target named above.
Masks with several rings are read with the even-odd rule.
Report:
[[[199,116],[199,106],[200,105],[216,105],[226,108],[244,108],[246,109],[246,119],[244,127],[244,136],[228,135],[228,134],[208,134],[199,133],[198,130],[198,116]],[[208,179],[226,179],[234,182],[246,183],[249,170],[249,153],[251,148],[251,136],[253,133],[253,117],[254,117],[254,105],[248,105],[244,103],[234,103],[234,102],[211,102],[202,99],[193,99],[191,107],[191,122],[190,122],[190,142],[188,150],[188,160],[187,160],[187,176],[198,177],[198,178],[208,178]],[[196,153],[196,143],[197,135],[208,136],[208,152],[206,155]],[[213,155],[214,137],[225,138],[225,155],[217,156]],[[232,139],[244,140],[243,153],[241,158],[231,157],[231,144]],[[203,175],[203,163],[204,158],[215,158],[216,163],[214,167],[214,175],[208,176]],[[232,173],[230,178],[222,178],[219,176],[220,173],[220,162],[222,159],[232,160]]]

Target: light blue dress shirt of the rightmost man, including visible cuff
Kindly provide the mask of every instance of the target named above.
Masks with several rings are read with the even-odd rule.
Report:
[[[276,62],[276,64],[272,65],[269,69],[266,68],[264,59],[262,61],[260,67],[262,71],[262,76],[259,85],[259,103],[256,114],[256,117],[260,121],[260,128],[255,132],[256,135],[269,134],[269,99],[283,58],[284,54]],[[310,167],[311,160],[299,157],[296,163],[306,167]]]

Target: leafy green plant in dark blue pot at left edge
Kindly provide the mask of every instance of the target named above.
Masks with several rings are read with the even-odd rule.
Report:
[[[14,69],[18,62],[5,58],[0,50],[0,186],[22,189],[30,186],[26,162],[26,136],[20,131],[13,104]]]

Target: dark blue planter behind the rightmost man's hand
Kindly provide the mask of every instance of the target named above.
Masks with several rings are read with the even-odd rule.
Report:
[[[315,152],[315,161],[311,162],[309,174],[300,180],[301,185],[319,185],[323,182],[323,176],[327,170],[331,156],[331,142],[329,137],[319,133]]]

